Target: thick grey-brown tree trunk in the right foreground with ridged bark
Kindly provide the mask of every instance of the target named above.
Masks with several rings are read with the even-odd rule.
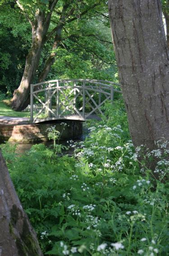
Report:
[[[160,0],[109,0],[119,80],[135,146],[169,140],[169,56]]]

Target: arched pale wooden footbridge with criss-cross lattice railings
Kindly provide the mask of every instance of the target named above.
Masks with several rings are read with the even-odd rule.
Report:
[[[51,80],[31,84],[31,122],[79,120],[104,115],[101,106],[113,102],[120,84],[90,79]]]

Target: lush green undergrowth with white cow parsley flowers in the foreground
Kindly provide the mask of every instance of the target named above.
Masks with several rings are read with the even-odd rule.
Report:
[[[139,162],[142,149],[128,141],[123,103],[107,105],[106,113],[84,142],[70,141],[72,157],[45,145],[14,156],[4,146],[23,208],[49,255],[167,255],[166,144],[145,153],[157,159],[156,180]]]

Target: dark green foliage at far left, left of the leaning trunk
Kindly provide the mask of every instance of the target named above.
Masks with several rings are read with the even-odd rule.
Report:
[[[21,81],[30,25],[12,2],[0,7],[0,89],[11,96]]]

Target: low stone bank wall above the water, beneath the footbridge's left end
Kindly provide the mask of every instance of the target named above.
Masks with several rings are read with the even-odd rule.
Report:
[[[63,130],[62,122],[66,123]],[[0,124],[0,142],[10,141],[18,143],[29,143],[48,140],[46,129],[56,126],[61,135],[60,139],[74,139],[82,135],[82,121],[51,121],[41,124],[11,125]]]

